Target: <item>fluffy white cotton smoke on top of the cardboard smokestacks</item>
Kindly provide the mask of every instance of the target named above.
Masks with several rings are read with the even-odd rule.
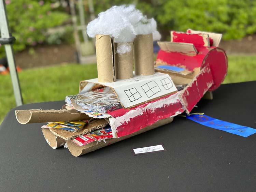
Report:
[[[153,33],[153,41],[161,38],[156,29],[155,19],[147,19],[134,5],[113,6],[101,12],[98,18],[88,24],[86,31],[91,38],[94,38],[96,34],[110,35],[116,43],[131,42],[137,34]],[[117,47],[119,54],[130,50],[128,44]]]

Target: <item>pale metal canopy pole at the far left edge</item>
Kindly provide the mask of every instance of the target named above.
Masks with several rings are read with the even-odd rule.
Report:
[[[8,18],[6,15],[4,0],[0,0],[0,31],[1,31],[0,43],[4,44],[5,53],[8,60],[10,73],[11,73],[16,105],[20,106],[23,104],[23,101],[22,101],[22,95],[21,95],[20,86],[19,86],[19,79],[16,71],[16,65],[15,65],[15,60],[13,57],[13,49],[12,49],[12,43],[14,42],[15,38],[12,37],[9,31],[9,24],[8,24]]]

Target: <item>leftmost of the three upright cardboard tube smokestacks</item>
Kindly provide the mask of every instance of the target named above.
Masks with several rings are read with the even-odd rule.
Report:
[[[96,35],[95,47],[99,82],[114,82],[114,39],[110,35]]]

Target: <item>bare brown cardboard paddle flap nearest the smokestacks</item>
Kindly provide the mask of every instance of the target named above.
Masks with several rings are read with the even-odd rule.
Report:
[[[163,51],[179,52],[189,55],[196,55],[198,53],[193,43],[180,43],[169,41],[158,41],[157,43]]]

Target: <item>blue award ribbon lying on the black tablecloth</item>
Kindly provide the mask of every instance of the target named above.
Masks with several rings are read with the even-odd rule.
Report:
[[[236,134],[236,135],[239,135],[242,137],[248,137],[248,136],[256,133],[256,129],[253,129],[251,127],[245,127],[245,126],[230,123],[227,121],[222,121],[219,119],[209,117],[207,115],[191,114],[191,115],[187,115],[187,119],[190,119],[192,121],[195,121],[195,122],[205,125],[207,127],[226,131],[226,132]]]

